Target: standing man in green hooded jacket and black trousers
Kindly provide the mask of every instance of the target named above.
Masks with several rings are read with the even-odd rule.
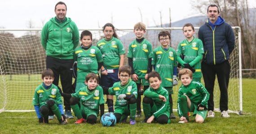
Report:
[[[63,92],[72,93],[73,52],[79,43],[79,30],[75,22],[66,17],[66,10],[64,2],[55,5],[56,17],[44,25],[41,43],[46,50],[46,68],[52,69],[54,73],[53,84],[58,85],[60,77]],[[74,118],[69,99],[65,97],[64,105],[66,117]]]

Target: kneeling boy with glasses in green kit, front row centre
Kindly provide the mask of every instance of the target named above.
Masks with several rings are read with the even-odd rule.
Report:
[[[136,98],[137,86],[131,78],[131,67],[123,66],[119,68],[120,82],[116,82],[111,88],[104,88],[104,94],[115,95],[115,117],[116,122],[126,122],[130,115],[130,125],[136,123]]]

